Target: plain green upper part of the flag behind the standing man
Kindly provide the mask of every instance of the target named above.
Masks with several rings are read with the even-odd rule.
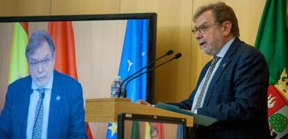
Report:
[[[273,85],[288,66],[287,14],[287,0],[267,0],[255,42],[255,47],[267,60],[270,84]]]

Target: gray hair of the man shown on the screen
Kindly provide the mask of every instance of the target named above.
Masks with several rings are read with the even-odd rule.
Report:
[[[51,36],[46,31],[35,31],[29,38],[29,42],[26,47],[26,58],[28,59],[36,49],[40,47],[43,42],[47,42],[54,58],[55,46]]]

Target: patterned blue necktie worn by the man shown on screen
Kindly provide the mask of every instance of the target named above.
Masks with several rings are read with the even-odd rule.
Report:
[[[43,113],[44,113],[43,99],[45,97],[46,90],[47,90],[46,88],[37,89],[37,91],[39,92],[39,100],[37,102],[35,111],[32,139],[42,138],[42,125],[43,125]]]

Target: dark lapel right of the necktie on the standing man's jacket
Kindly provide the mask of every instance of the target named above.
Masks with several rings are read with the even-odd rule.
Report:
[[[215,84],[218,82],[218,79],[221,77],[222,73],[224,72],[225,68],[229,65],[231,59],[230,56],[232,56],[232,54],[234,54],[234,52],[237,49],[237,46],[241,43],[241,40],[239,40],[239,38],[235,38],[235,40],[232,42],[230,48],[227,50],[225,56],[223,57],[223,59],[221,60],[220,65],[218,66],[214,76],[211,79],[211,82],[209,84],[209,87],[207,88],[207,93],[205,96],[205,100],[204,100],[204,104],[203,106],[207,106],[212,92],[214,90]]]

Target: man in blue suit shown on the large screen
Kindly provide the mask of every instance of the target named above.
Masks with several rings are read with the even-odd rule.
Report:
[[[8,86],[0,138],[87,138],[81,84],[54,70],[48,33],[31,35],[26,59],[30,75]]]

